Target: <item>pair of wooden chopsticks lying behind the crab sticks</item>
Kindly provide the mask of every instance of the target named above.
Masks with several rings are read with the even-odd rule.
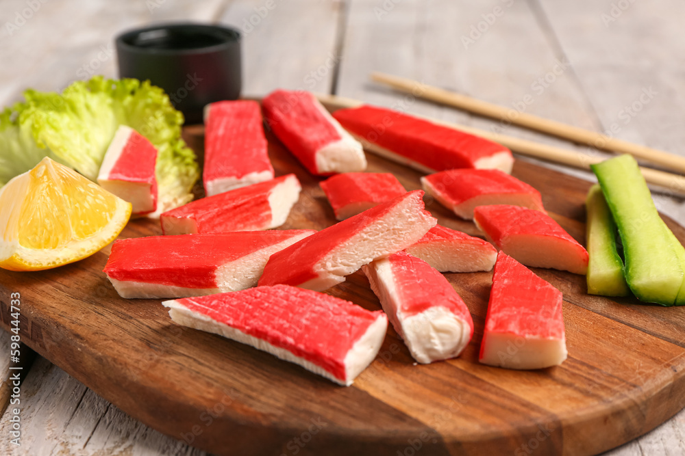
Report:
[[[568,139],[569,141],[578,144],[586,144],[593,148],[630,154],[637,159],[648,161],[654,165],[664,167],[665,169],[685,173],[685,157],[679,157],[670,154],[669,152],[664,152],[663,150],[640,146],[638,144],[623,141],[622,139],[616,139],[594,131],[566,125],[562,122],[541,118],[525,112],[512,113],[512,109],[450,92],[449,90],[440,89],[418,81],[412,81],[412,79],[386,75],[382,72],[373,72],[371,74],[371,79],[388,85],[400,92],[412,94],[418,98],[425,98],[426,100],[463,109],[464,111],[469,111],[478,114],[479,116],[523,126],[527,129]],[[448,122],[438,123],[498,142],[521,155],[551,161],[553,163],[560,163],[562,165],[587,170],[590,169],[590,165],[593,163],[603,161],[603,157],[584,152],[576,152],[571,149],[548,146],[547,144],[541,144],[528,141],[527,139],[502,135],[501,133],[485,131],[482,129],[475,129],[470,126],[451,124]],[[682,175],[653,170],[649,167],[640,167],[640,171],[643,176],[645,176],[645,180],[647,180],[648,183],[664,187],[669,193],[685,196],[685,178]]]

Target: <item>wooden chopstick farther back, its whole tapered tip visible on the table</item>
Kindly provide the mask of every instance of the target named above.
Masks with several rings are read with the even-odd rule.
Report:
[[[382,72],[372,72],[371,79],[388,85],[400,92],[411,93],[414,96],[476,113],[479,116],[510,122],[515,125],[524,126],[527,129],[569,139],[569,141],[579,144],[587,144],[588,146],[597,149],[630,154],[675,172],[685,172],[685,157],[664,152],[663,150],[640,146],[639,144],[623,141],[623,139],[617,139],[595,131],[581,129],[577,126],[563,124],[562,122],[556,122],[555,120],[545,119],[525,112],[519,112],[514,109],[495,105],[494,103],[488,103],[483,100],[471,98],[470,96],[413,81],[412,79],[387,75]],[[515,114],[512,113],[512,111]]]

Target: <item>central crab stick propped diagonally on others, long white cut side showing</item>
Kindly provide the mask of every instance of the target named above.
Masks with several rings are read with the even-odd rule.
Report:
[[[422,196],[421,190],[410,191],[273,254],[259,284],[322,291],[363,265],[406,249],[437,223]]]

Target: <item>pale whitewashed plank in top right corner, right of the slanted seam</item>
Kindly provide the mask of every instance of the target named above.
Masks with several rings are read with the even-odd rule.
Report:
[[[672,58],[684,44],[679,21],[665,19],[682,17],[685,4],[614,3],[576,2],[573,8],[586,12],[582,17],[563,2],[541,2],[540,10],[573,62],[601,122],[598,131],[685,155],[685,131],[677,127],[685,122],[685,84]],[[682,198],[655,200],[661,211],[685,219]]]

